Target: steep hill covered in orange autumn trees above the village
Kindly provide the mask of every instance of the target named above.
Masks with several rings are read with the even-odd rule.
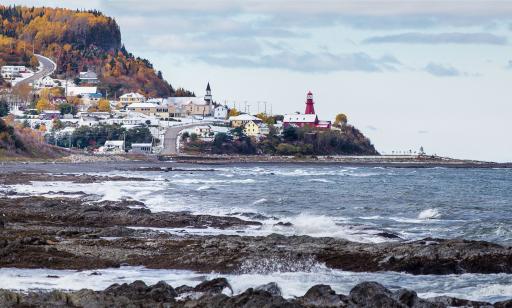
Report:
[[[111,95],[142,91],[169,96],[174,90],[145,59],[129,53],[113,18],[98,11],[0,5],[0,65],[36,66],[32,49],[54,59],[56,77],[95,71]]]

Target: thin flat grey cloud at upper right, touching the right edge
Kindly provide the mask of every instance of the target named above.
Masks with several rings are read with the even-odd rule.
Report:
[[[373,36],[363,41],[365,44],[403,43],[403,44],[490,44],[505,45],[507,38],[490,33],[401,33]]]

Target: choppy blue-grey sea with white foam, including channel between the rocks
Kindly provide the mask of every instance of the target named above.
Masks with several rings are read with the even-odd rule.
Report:
[[[194,169],[202,167],[194,166]],[[210,167],[205,169],[211,169]],[[339,165],[272,164],[216,165],[214,171],[110,171],[98,175],[143,177],[150,181],[101,183],[32,182],[0,187],[23,195],[69,197],[90,194],[91,202],[138,200],[152,211],[189,211],[257,220],[262,226],[215,228],[153,228],[195,235],[309,235],[358,242],[415,240],[426,237],[484,240],[512,245],[512,170],[451,168],[372,168]],[[277,223],[291,223],[291,226]],[[383,236],[394,234],[398,238]],[[270,262],[271,263],[271,262]],[[115,282],[166,280],[173,286],[195,285],[218,277],[190,271],[140,267],[89,271],[0,269],[0,287],[103,289]],[[56,278],[57,276],[57,278]],[[226,275],[222,275],[226,276]],[[277,282],[287,297],[303,295],[315,284],[329,284],[347,293],[361,281],[389,288],[407,287],[420,296],[449,295],[474,300],[512,298],[512,275],[408,275],[353,273],[313,264],[308,270],[245,266],[226,276],[235,293],[258,284]],[[2,282],[8,285],[2,285]]]

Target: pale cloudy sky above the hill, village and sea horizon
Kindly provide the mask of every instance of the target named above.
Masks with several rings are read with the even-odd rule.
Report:
[[[377,150],[512,161],[512,1],[89,0],[173,87],[251,113],[345,113]],[[245,107],[248,106],[248,107]]]

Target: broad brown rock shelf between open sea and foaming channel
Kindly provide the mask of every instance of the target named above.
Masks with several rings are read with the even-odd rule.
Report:
[[[380,244],[309,236],[247,236],[260,223],[236,217],[153,213],[138,201],[0,198],[0,266],[94,269],[120,265],[238,273],[247,268],[334,269],[411,274],[512,273],[512,249],[466,240],[395,240]],[[136,227],[136,228],[134,228]],[[283,226],[286,228],[286,226]],[[198,236],[154,228],[236,229]]]

